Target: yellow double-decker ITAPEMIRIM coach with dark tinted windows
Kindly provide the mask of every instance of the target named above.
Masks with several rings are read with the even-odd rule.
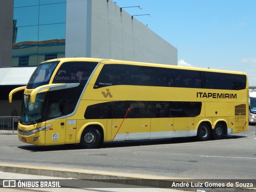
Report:
[[[24,90],[18,138],[34,145],[196,136],[248,128],[244,72],[96,58],[42,62]]]

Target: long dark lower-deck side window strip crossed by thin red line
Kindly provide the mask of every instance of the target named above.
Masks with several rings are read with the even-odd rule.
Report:
[[[195,117],[201,112],[201,102],[116,101],[94,104],[86,108],[86,119],[175,118]],[[128,111],[128,108],[130,110]],[[126,116],[127,113],[127,116]]]

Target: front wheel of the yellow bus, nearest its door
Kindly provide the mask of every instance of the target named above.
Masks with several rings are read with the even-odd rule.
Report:
[[[81,136],[80,145],[84,148],[96,148],[100,144],[100,131],[97,128],[86,128]]]

